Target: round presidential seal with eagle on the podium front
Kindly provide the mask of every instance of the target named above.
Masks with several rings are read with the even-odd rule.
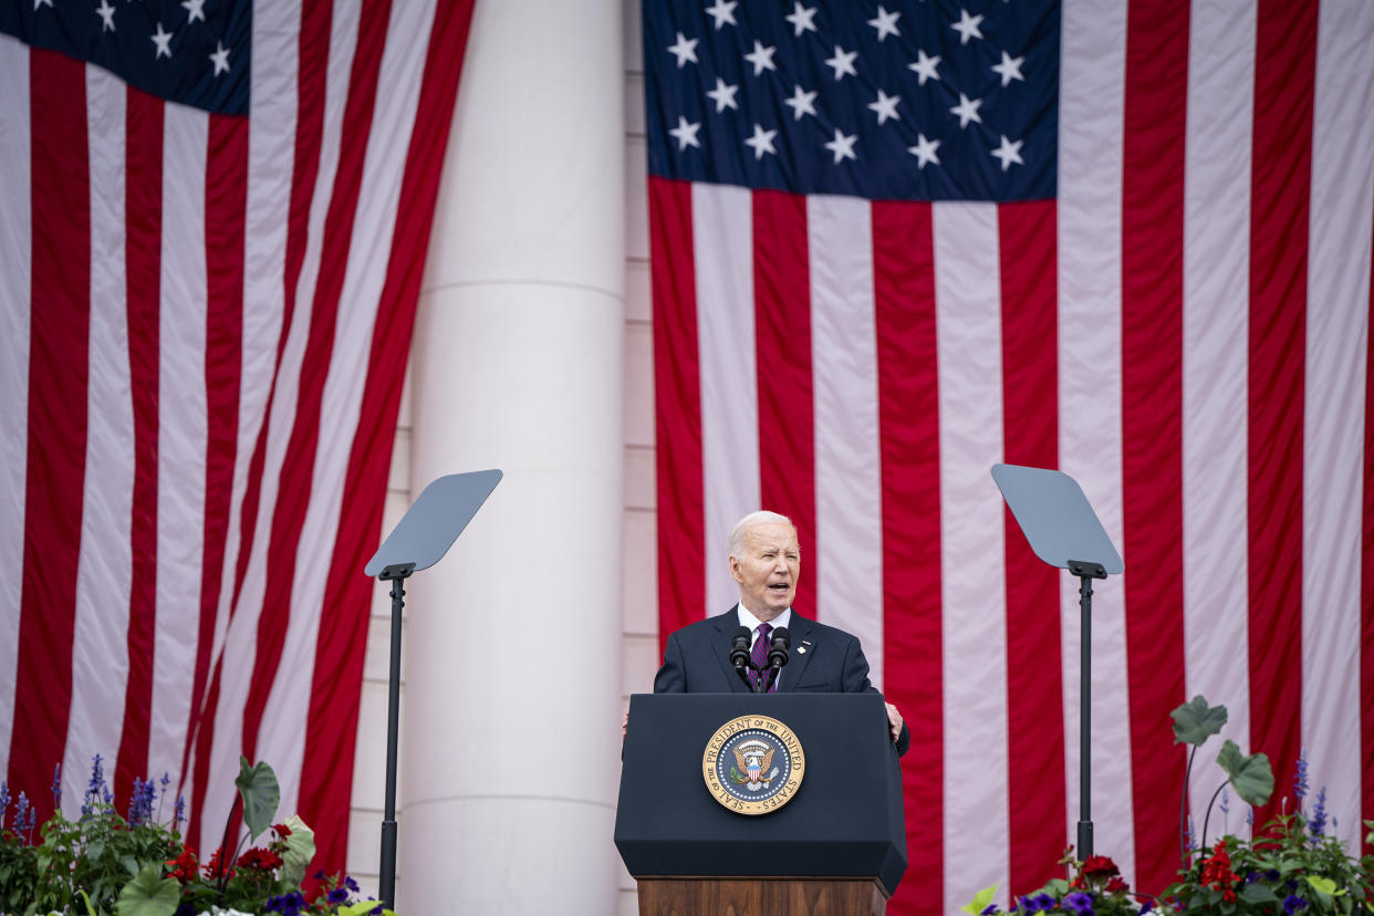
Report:
[[[701,758],[706,788],[741,814],[767,814],[790,802],[805,768],[801,742],[767,715],[730,720],[710,736]]]

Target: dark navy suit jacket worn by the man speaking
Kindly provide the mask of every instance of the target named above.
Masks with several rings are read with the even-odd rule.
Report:
[[[664,666],[654,677],[655,694],[747,694],[730,663],[730,640],[739,629],[731,607],[682,628],[668,637]],[[791,650],[778,676],[779,694],[877,694],[868,681],[868,659],[859,640],[834,626],[807,619],[796,610],[787,626]],[[903,724],[897,754],[905,754],[911,732]]]

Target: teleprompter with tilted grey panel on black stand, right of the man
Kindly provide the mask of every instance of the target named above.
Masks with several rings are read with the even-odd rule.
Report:
[[[1079,858],[1092,854],[1092,580],[1125,566],[1077,481],[1063,471],[993,464],[992,479],[1035,555],[1079,577]]]

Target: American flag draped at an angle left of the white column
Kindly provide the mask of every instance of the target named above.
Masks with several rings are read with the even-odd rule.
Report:
[[[344,865],[471,5],[0,5],[0,773],[40,816],[102,754],[207,856],[242,753]]]

